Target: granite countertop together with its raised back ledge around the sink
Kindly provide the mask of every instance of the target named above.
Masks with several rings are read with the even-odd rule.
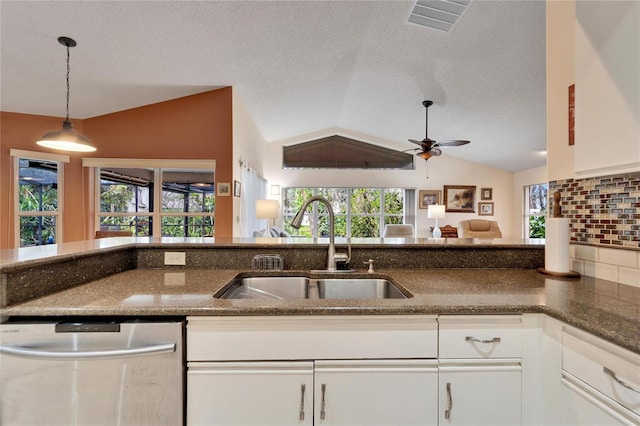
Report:
[[[344,241],[337,241],[339,247]],[[362,239],[363,262],[410,292],[405,300],[220,300],[213,294],[276,253],[287,271],[320,269],[324,239],[109,238],[0,254],[3,316],[545,313],[640,353],[640,289],[591,277],[559,279],[544,240]],[[164,266],[163,253],[186,253]],[[360,266],[362,265],[362,267]]]

